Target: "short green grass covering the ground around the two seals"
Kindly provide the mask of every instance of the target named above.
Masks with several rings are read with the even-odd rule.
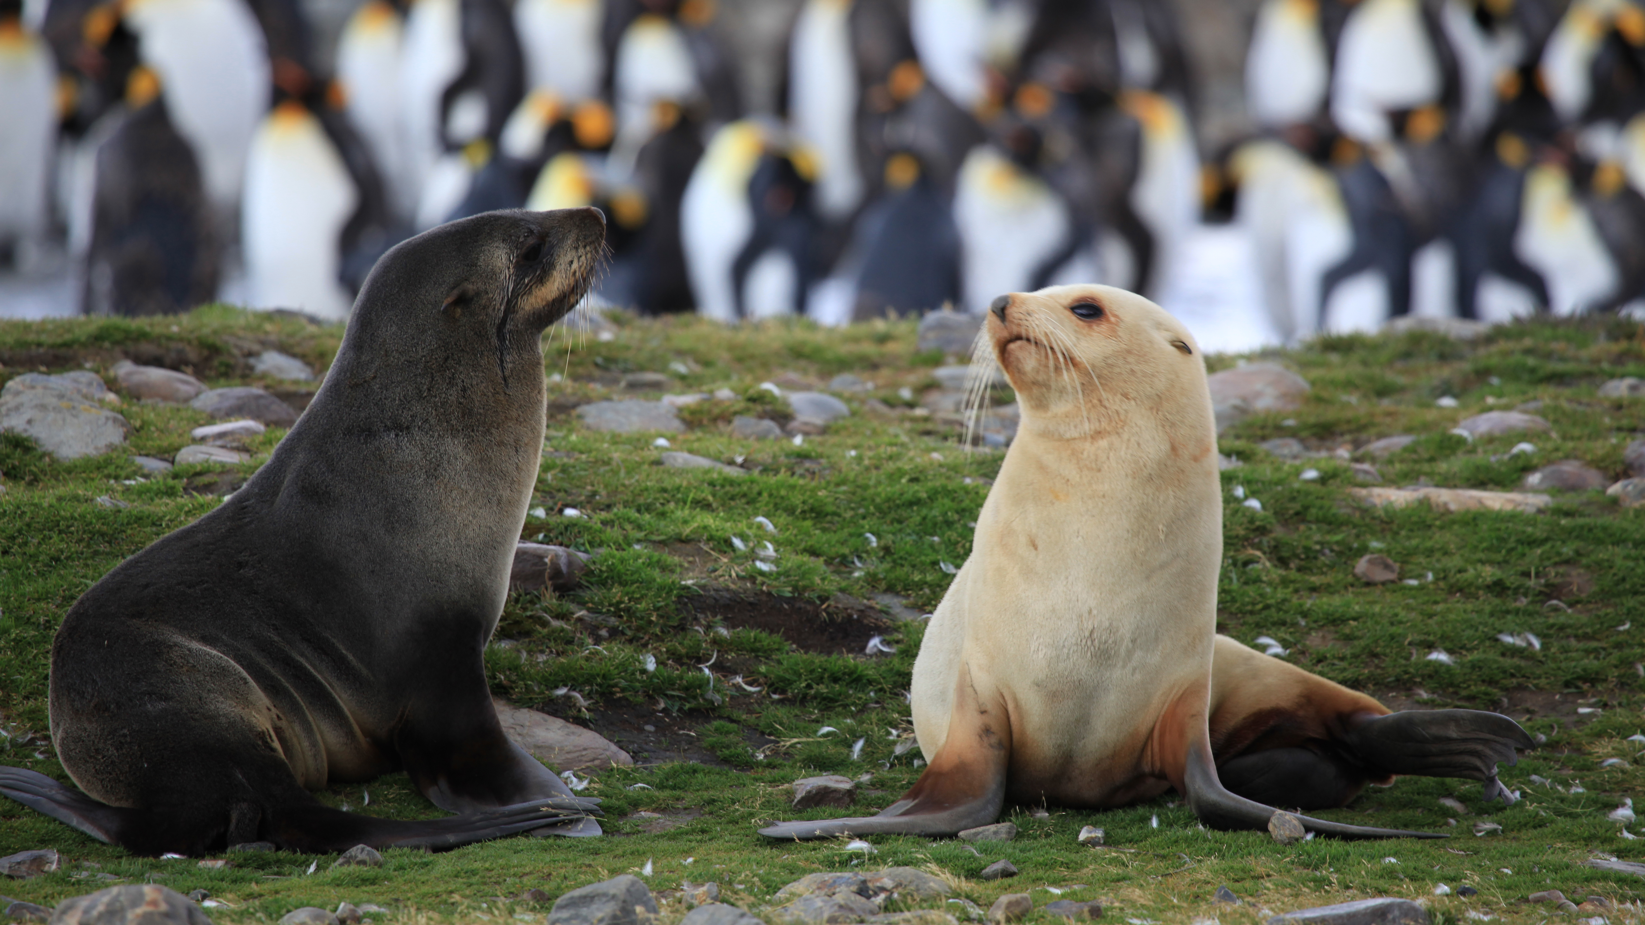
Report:
[[[643,706],[681,713],[691,718],[701,749],[719,764],[671,762],[595,775],[584,793],[605,800],[605,828],[614,838],[513,838],[434,856],[388,851],[383,869],[331,871],[332,858],[293,854],[239,854],[220,871],[194,861],[138,859],[0,803],[0,854],[43,846],[64,854],[63,871],[5,884],[3,892],[51,904],[102,885],[97,876],[107,874],[118,882],[211,890],[230,904],[211,910],[220,922],[276,920],[299,905],[336,907],[341,900],[392,909],[387,917],[375,915],[380,922],[513,920],[517,913],[541,920],[544,907],[497,897],[517,897],[528,887],[558,895],[650,861],[656,890],[714,881],[724,897],[748,907],[760,907],[806,872],[854,862],[910,864],[939,869],[956,884],[956,895],[982,907],[1002,892],[1022,890],[1033,890],[1043,905],[1054,897],[1038,887],[1084,884],[1064,897],[1104,899],[1110,918],[1173,925],[1212,915],[1247,922],[1263,909],[1283,912],[1365,895],[1425,899],[1446,923],[1466,922],[1471,910],[1512,922],[1541,920],[1548,907],[1523,905],[1527,894],[1541,889],[1561,889],[1574,899],[1640,899],[1645,881],[1581,862],[1596,853],[1645,861],[1645,843],[1625,841],[1620,826],[1606,818],[1645,780],[1635,760],[1640,749],[1625,742],[1645,729],[1645,678],[1637,670],[1645,662],[1645,510],[1622,510],[1597,492],[1559,495],[1541,515],[1370,510],[1349,499],[1346,489],[1357,482],[1346,462],[1281,462],[1258,443],[1295,436],[1329,449],[1397,433],[1420,436],[1379,464],[1383,484],[1392,486],[1426,481],[1512,489],[1536,464],[1568,458],[1620,477],[1622,448],[1645,431],[1645,402],[1597,398],[1596,388],[1617,375],[1645,375],[1642,326],[1527,323],[1466,344],[1425,332],[1323,337],[1308,349],[1253,357],[1283,362],[1311,380],[1313,393],[1301,410],[1258,415],[1222,436],[1222,451],[1244,461],[1222,476],[1222,632],[1245,642],[1272,635],[1291,650],[1293,663],[1393,703],[1535,704],[1527,727],[1546,744],[1504,772],[1508,787],[1522,790],[1520,803],[1484,806],[1477,783],[1402,779],[1323,815],[1454,831],[1456,838],[1316,839],[1290,848],[1257,833],[1201,830],[1171,798],[1109,813],[1051,808],[1045,818],[1015,808],[1010,818],[1022,834],[1008,844],[972,849],[954,841],[873,838],[877,854],[862,859],[841,843],[768,844],[755,826],[791,816],[785,785],[796,777],[872,774],[859,810],[890,803],[918,777],[918,751],[893,755],[893,736],[910,729],[903,691],[920,624],[898,624],[887,637],[898,648],[895,655],[818,655],[758,630],[694,632],[691,597],[707,584],[814,601],[892,593],[929,611],[949,579],[941,563],[959,565],[969,553],[971,522],[987,492],[979,479],[992,477],[1002,456],[966,453],[951,421],[911,410],[915,402],[900,390],[918,400],[936,385],[931,369],[943,362],[916,351],[911,323],[819,331],[804,323],[722,329],[696,319],[617,321],[610,341],[548,344],[548,369],[561,375],[551,385],[559,411],[546,438],[556,453],[544,458],[535,499],[546,517],[530,518],[523,532],[525,538],[602,555],[572,594],[510,597],[497,634],[507,645],[487,652],[489,675],[500,696],[572,719],[571,701],[554,695],[559,688],[576,691],[595,711]],[[163,319],[0,323],[0,380],[39,367],[58,372],[90,364],[112,383],[109,367],[130,356],[189,365],[212,385],[255,383],[248,354],[283,349],[324,367],[339,337],[336,328],[227,308]],[[1234,362],[1212,357],[1212,369]],[[671,436],[673,448],[724,461],[744,456],[757,474],[739,479],[663,469],[656,464],[660,449],[651,446],[655,435],[591,433],[568,410],[581,400],[625,397],[623,374],[663,372],[671,364],[686,370],[673,374],[673,392],[724,387],[737,393],[730,402],[688,408],[683,416],[693,430]],[[803,446],[730,436],[734,415],[783,411],[762,382],[821,385],[839,372],[872,380],[875,388],[849,395],[854,415],[827,435]],[[1441,395],[1456,397],[1461,407],[1438,408]],[[890,411],[870,410],[869,398]],[[1446,433],[1462,416],[1531,400],[1543,402],[1536,413],[1555,428],[1531,438],[1535,458],[1505,458],[1517,438],[1469,444]],[[48,653],[63,612],[123,556],[217,504],[183,490],[184,477],[212,467],[137,482],[141,472],[128,458],[169,458],[188,443],[188,430],[204,423],[202,415],[133,402],[122,410],[137,428],[130,449],[100,459],[56,462],[26,439],[0,436],[0,484],[7,489],[0,495],[3,764],[63,775],[44,741]],[[271,430],[253,449],[266,454],[280,436]],[[1298,479],[1308,466],[1319,469],[1318,481]],[[1258,497],[1263,510],[1240,507],[1235,487]],[[132,507],[100,507],[99,495]],[[587,517],[559,517],[563,507]],[[755,517],[770,518],[778,532],[767,533]],[[878,543],[870,546],[864,533]],[[748,543],[770,540],[778,551],[775,571],[760,571],[752,550],[735,548],[734,535]],[[1402,578],[1418,584],[1357,581],[1352,565],[1369,551],[1388,555],[1400,563]],[[1545,607],[1551,599],[1569,611]],[[579,619],[584,611],[602,619]],[[1622,625],[1630,629],[1615,629]],[[1543,648],[1504,645],[1499,632],[1533,632]],[[1426,660],[1434,648],[1456,663]],[[643,668],[648,655],[656,658],[655,672]],[[712,688],[699,670],[711,658],[724,670]],[[734,673],[763,690],[730,685]],[[1594,713],[1579,714],[1578,708]],[[819,737],[821,726],[841,732]],[[865,744],[852,759],[859,737]],[[1609,757],[1635,767],[1601,769]],[[1558,787],[1531,783],[1533,774]],[[638,783],[645,788],[628,788]],[[1571,793],[1574,783],[1581,792]],[[372,813],[438,815],[403,775],[365,788]],[[1441,797],[1462,800],[1472,815],[1456,816],[1439,805]],[[364,793],[359,785],[336,787],[322,798],[360,808]],[[646,834],[642,820],[630,818],[642,810],[701,815]],[[1446,825],[1448,816],[1457,828]],[[1480,820],[1499,823],[1502,831],[1476,838],[1471,826]],[[1076,844],[1084,825],[1105,828],[1114,848]],[[1022,876],[977,881],[999,858],[1012,859]],[[308,874],[311,864],[316,871]],[[1479,895],[1433,897],[1439,882],[1453,890],[1474,885]],[[1247,904],[1214,907],[1211,894],[1221,884]],[[679,904],[665,904],[665,918],[683,912]]]

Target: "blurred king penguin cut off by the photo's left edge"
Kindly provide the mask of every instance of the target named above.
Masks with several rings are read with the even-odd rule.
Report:
[[[0,267],[26,260],[46,230],[58,79],[51,49],[0,0]],[[10,260],[8,260],[10,257]]]

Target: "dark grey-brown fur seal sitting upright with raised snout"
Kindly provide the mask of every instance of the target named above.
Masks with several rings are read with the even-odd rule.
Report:
[[[540,336],[587,291],[604,227],[487,212],[383,255],[268,462],[64,617],[51,736],[84,793],[23,769],[0,793],[140,854],[599,834],[597,800],[503,736],[482,653],[541,456]],[[462,815],[308,792],[398,769]]]

